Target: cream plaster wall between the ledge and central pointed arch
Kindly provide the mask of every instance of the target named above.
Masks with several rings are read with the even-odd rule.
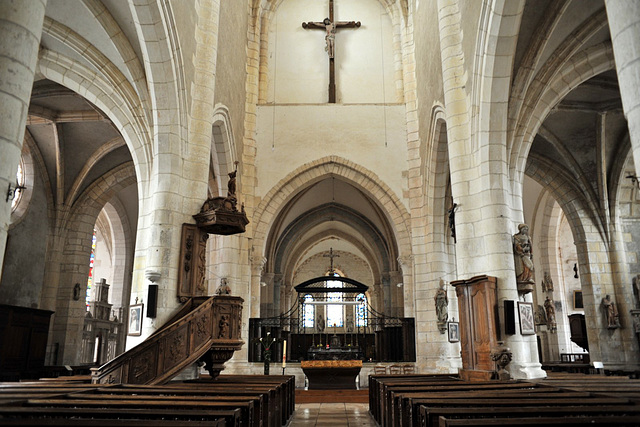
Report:
[[[258,197],[296,168],[336,155],[376,173],[403,200],[404,106],[259,106],[256,127]]]

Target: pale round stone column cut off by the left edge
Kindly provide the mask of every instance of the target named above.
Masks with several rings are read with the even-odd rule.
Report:
[[[0,2],[0,271],[11,221],[7,190],[15,187],[46,0]]]

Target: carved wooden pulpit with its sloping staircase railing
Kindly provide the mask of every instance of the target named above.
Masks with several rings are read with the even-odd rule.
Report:
[[[186,367],[203,361],[212,377],[244,344],[241,339],[240,297],[219,295],[190,299],[164,327],[144,342],[99,368],[92,369],[94,384],[163,384]]]

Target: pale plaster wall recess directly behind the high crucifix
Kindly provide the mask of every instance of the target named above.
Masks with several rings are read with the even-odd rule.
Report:
[[[303,22],[329,16],[328,0],[284,0],[269,28],[268,103],[325,103],[329,56],[325,32]],[[395,101],[391,20],[377,0],[336,2],[335,21],[360,21],[338,29],[335,41],[338,103]]]

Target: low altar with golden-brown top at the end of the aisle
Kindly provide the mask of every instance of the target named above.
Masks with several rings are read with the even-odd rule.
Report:
[[[362,360],[303,360],[300,367],[309,380],[309,390],[355,390]]]

